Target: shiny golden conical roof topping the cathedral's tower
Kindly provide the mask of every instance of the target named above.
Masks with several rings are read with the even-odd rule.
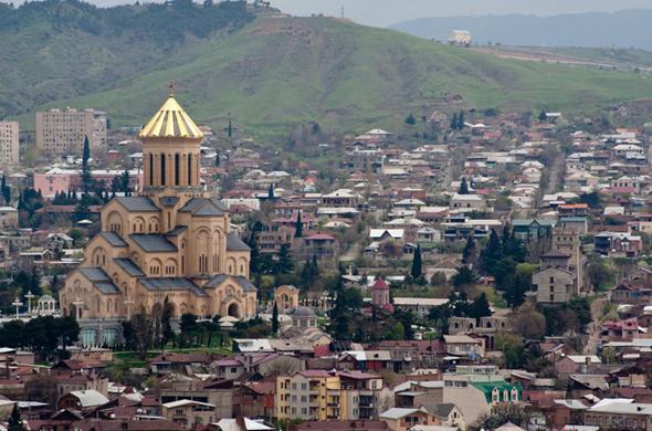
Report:
[[[203,134],[170,94],[139,134],[140,138],[201,139]]]

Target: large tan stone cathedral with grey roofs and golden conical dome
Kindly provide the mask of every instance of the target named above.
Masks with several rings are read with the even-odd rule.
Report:
[[[111,322],[166,298],[176,317],[255,315],[250,250],[200,185],[202,138],[171,94],[140,132],[143,192],[104,206],[102,231],[60,292],[62,313],[77,317],[84,344],[111,344]]]

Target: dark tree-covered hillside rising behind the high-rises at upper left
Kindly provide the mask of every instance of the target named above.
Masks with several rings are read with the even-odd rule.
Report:
[[[25,2],[15,9],[0,2],[0,118],[169,67],[175,53],[253,19],[241,2],[111,9],[77,0]]]

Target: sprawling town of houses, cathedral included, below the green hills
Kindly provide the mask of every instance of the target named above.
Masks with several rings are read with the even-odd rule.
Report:
[[[652,126],[624,107],[410,114],[308,158],[171,90],[143,129],[50,115],[2,177],[9,425],[649,429]]]

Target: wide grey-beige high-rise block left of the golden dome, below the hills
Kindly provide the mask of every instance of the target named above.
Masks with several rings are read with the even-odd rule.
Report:
[[[70,108],[36,113],[36,147],[48,154],[81,156],[86,136],[92,149],[106,145],[106,113]]]

